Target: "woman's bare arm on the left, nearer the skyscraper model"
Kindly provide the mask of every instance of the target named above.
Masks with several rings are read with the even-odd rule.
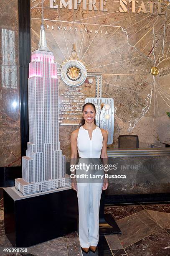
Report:
[[[76,159],[77,159],[77,137],[78,137],[79,129],[75,130],[71,134],[71,160],[70,164],[75,165]],[[71,172],[71,174],[75,174],[74,172]],[[71,179],[71,187],[72,189],[77,191],[77,182],[75,178]]]

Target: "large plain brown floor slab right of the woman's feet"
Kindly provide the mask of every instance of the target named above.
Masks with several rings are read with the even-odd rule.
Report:
[[[117,225],[122,231],[117,237],[123,248],[161,229],[145,210],[118,220]]]

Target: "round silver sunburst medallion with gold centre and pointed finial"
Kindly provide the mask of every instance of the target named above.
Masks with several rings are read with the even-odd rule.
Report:
[[[79,86],[84,83],[87,77],[87,70],[84,63],[79,61],[76,46],[73,44],[70,60],[63,62],[61,68],[61,78],[63,82],[70,86]]]

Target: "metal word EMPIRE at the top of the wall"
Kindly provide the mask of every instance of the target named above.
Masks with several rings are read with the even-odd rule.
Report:
[[[74,10],[77,10],[78,5],[83,2],[83,10],[95,10],[95,11],[107,11],[106,3],[107,0],[100,0],[99,9],[96,7],[96,0],[49,0],[50,8],[66,8],[68,6],[69,9],[72,9],[74,6]],[[87,8],[88,5],[88,8]]]

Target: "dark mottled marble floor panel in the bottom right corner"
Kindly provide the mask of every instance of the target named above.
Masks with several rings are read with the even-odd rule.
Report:
[[[128,256],[168,256],[170,255],[170,234],[165,229],[147,236],[125,248]]]

